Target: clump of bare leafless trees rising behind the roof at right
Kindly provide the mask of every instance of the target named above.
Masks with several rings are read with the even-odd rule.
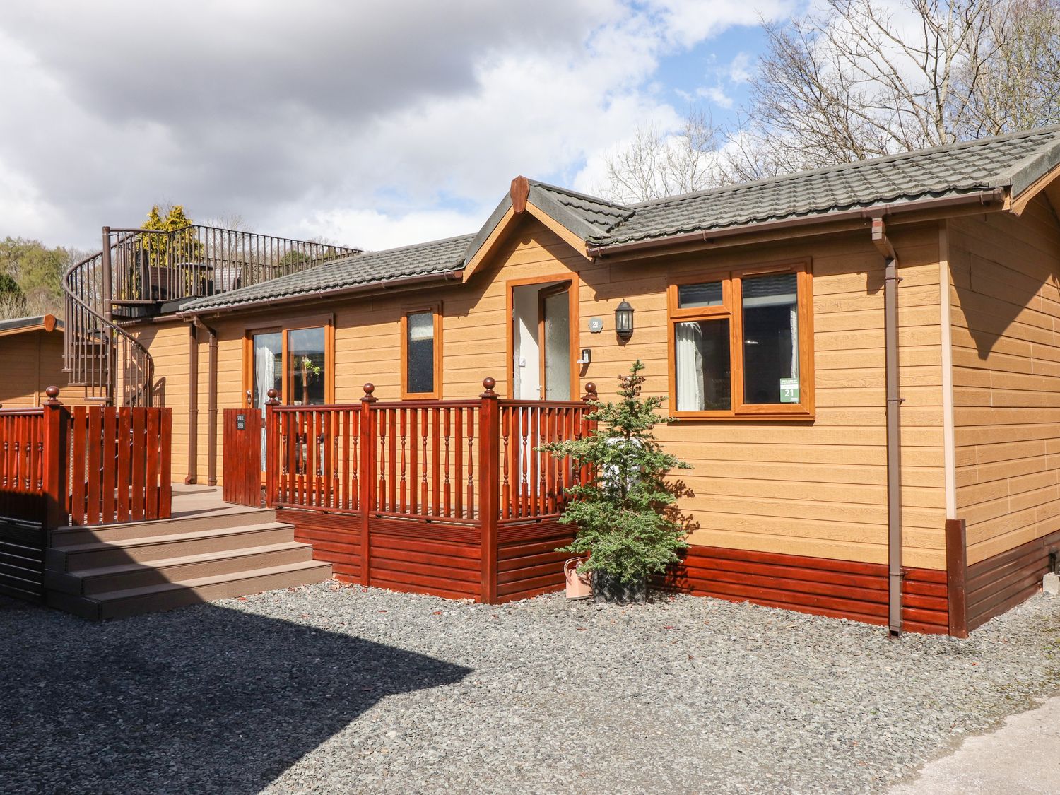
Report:
[[[1060,123],[1060,0],[824,0],[763,29],[738,121],[720,130],[696,113],[674,135],[638,130],[607,160],[607,195],[656,198]],[[675,169],[672,153],[694,158]]]

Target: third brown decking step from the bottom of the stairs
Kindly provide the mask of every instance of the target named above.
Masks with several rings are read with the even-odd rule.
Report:
[[[295,530],[292,525],[268,522],[261,525],[223,527],[191,533],[124,538],[114,543],[92,542],[50,548],[46,565],[52,571],[76,572],[104,566],[120,566],[127,563],[183,558],[204,552],[283,544],[294,540]]]

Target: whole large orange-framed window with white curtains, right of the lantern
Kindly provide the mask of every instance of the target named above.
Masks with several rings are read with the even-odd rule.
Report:
[[[810,279],[805,263],[785,263],[672,284],[671,412],[811,418]]]

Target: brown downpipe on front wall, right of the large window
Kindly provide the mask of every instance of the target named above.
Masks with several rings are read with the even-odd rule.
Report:
[[[887,385],[887,625],[902,634],[902,406],[898,381],[898,254],[883,218],[872,218],[872,244],[884,258],[883,340]]]

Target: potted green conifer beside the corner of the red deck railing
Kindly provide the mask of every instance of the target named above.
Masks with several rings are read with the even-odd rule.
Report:
[[[593,573],[596,601],[643,601],[648,579],[678,561],[687,544],[676,515],[672,470],[689,464],[665,453],[652,429],[673,419],[658,413],[662,398],[644,398],[644,369],[637,359],[619,376],[616,403],[593,402],[596,428],[582,439],[552,442],[542,449],[587,465],[588,479],[568,490],[573,499],[563,514],[575,523],[573,543],[559,551],[589,554],[579,571]]]

